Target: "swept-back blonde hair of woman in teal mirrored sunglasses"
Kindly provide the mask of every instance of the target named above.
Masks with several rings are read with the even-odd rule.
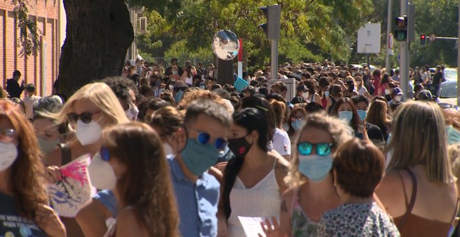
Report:
[[[298,171],[299,162],[297,152],[297,144],[300,136],[307,128],[318,128],[328,132],[332,137],[332,148],[338,148],[353,138],[353,130],[344,121],[335,117],[328,117],[325,112],[308,114],[304,119],[302,130],[298,132],[298,135],[294,138],[295,142],[292,145],[291,168],[289,169],[288,176],[284,179],[289,184],[289,187],[300,186],[307,181],[307,177]]]

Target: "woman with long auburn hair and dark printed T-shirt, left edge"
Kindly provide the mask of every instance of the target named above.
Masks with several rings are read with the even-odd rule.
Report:
[[[45,167],[29,121],[7,101],[0,101],[1,236],[66,236],[48,205]],[[8,223],[8,224],[7,224]]]

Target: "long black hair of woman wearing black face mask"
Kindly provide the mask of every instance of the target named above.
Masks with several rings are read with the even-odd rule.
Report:
[[[233,114],[233,123],[245,128],[247,134],[252,131],[259,132],[259,139],[252,146],[259,146],[263,151],[268,151],[267,143],[270,132],[268,132],[267,116],[259,109],[246,108]],[[224,203],[224,211],[227,219],[230,217],[230,192],[235,183],[236,176],[243,167],[244,157],[233,157],[229,160],[224,171],[224,191],[222,193],[222,201]]]

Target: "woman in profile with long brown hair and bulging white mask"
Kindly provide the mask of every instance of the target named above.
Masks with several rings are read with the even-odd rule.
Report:
[[[178,211],[161,147],[157,133],[142,123],[103,132],[89,177],[97,188],[113,190],[120,208],[104,236],[178,236]]]

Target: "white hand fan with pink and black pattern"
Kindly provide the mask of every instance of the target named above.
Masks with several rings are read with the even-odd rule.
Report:
[[[95,194],[95,188],[89,184],[86,171],[91,155],[86,154],[63,165],[62,180],[49,185],[48,192],[51,204],[59,215],[75,217],[82,206]]]

